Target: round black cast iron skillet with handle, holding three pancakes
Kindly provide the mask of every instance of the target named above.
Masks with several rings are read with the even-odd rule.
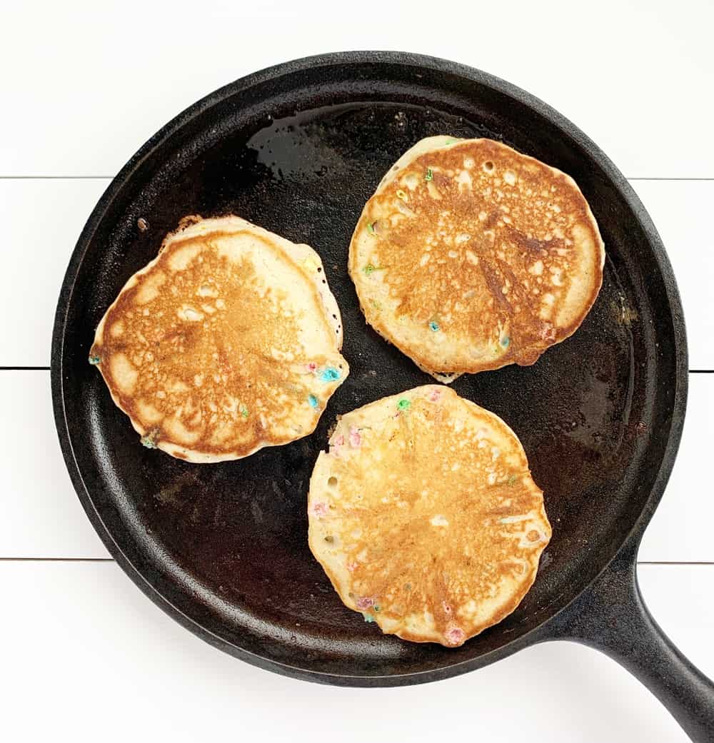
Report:
[[[364,202],[429,134],[493,137],[569,173],[608,253],[603,289],[574,337],[530,368],[453,385],[519,435],[553,525],[519,609],[459,649],[406,643],[363,623],[342,606],[306,538],[308,478],[335,416],[430,381],[365,325],[346,270]],[[179,218],[230,212],[320,253],[351,374],[314,435],[243,461],[187,464],[140,446],[88,350],[109,303]],[[441,59],[351,52],[278,65],[191,106],[114,178],[79,237],[56,313],[52,390],[65,460],[94,528],[155,603],[212,645],[297,678],[377,687],[577,640],[639,676],[694,739],[713,739],[714,687],[652,620],[635,577],[684,422],[675,279],[623,175],[519,88]]]

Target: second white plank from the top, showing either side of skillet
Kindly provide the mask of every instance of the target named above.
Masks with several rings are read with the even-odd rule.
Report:
[[[108,179],[0,180],[0,221],[6,230],[0,248],[4,267],[0,317],[24,309],[24,322],[0,323],[0,366],[48,366],[54,309],[65,268],[108,183]],[[675,269],[689,328],[689,366],[714,369],[714,344],[697,343],[714,335],[710,291],[714,233],[707,224],[714,181],[635,181],[633,185]],[[32,301],[27,302],[30,290]]]

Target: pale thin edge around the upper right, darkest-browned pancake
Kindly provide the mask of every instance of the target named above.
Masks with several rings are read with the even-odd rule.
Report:
[[[392,165],[392,167],[389,168],[389,170],[386,172],[386,174],[383,176],[382,180],[380,181],[379,185],[377,186],[377,189],[375,190],[374,194],[370,198],[374,198],[374,196],[380,195],[380,193],[382,193],[384,191],[384,189],[386,189],[386,187],[389,186],[389,184],[391,184],[395,180],[395,178],[397,178],[398,175],[400,175],[400,172],[402,172],[403,169],[405,169],[406,167],[408,167],[409,165],[411,165],[418,158],[421,158],[422,155],[428,155],[430,152],[435,152],[435,151],[440,150],[440,149],[449,149],[452,146],[460,145],[460,144],[467,143],[467,142],[474,142],[475,143],[475,142],[478,142],[479,139],[480,139],[480,137],[476,137],[476,138],[473,138],[473,139],[468,139],[468,138],[465,138],[465,137],[452,137],[452,136],[450,136],[448,134],[436,134],[433,137],[424,137],[423,139],[421,139],[417,143],[415,143],[415,145],[413,145],[408,150],[406,150],[406,152],[404,152],[404,154],[401,155],[401,157],[396,161],[396,163],[394,165]],[[508,147],[507,145],[504,145],[502,143],[496,142],[496,140],[492,140],[492,141],[495,142],[496,144],[499,144],[502,147],[505,147],[507,149],[512,149],[512,148]],[[574,181],[573,178],[571,178],[570,175],[568,175],[567,173],[562,172],[561,170],[559,170],[557,168],[554,168],[553,166],[548,165],[547,163],[542,163],[541,160],[537,160],[536,158],[531,158],[530,155],[523,155],[522,152],[518,152],[518,155],[520,157],[522,157],[522,158],[525,158],[526,160],[531,160],[534,163],[538,163],[539,165],[543,165],[543,166],[551,169],[551,171],[554,174],[560,175],[563,178],[565,178],[565,181],[570,186],[572,186],[574,189],[576,189],[576,191],[578,193],[580,193],[580,195],[582,196],[582,201],[585,202],[585,215],[588,218],[588,221],[590,222],[591,227],[593,227],[594,234],[597,236],[597,247],[600,250],[600,273],[601,273],[601,277],[600,277],[600,284],[597,285],[597,291],[594,291],[593,301],[591,302],[591,304],[587,308],[585,308],[585,310],[583,312],[582,317],[584,318],[588,314],[588,312],[590,311],[592,305],[594,304],[595,299],[597,299],[597,294],[600,292],[600,288],[602,287],[602,270],[603,270],[603,267],[605,265],[606,253],[605,253],[605,243],[603,242],[603,238],[600,235],[600,228],[597,226],[597,221],[595,219],[594,214],[592,213],[592,210],[590,208],[590,204],[588,203],[588,200],[585,198],[585,196],[582,195],[582,191],[580,190],[580,186],[577,185],[577,183]],[[349,273],[350,273],[350,276],[352,277],[352,280],[353,280],[354,285],[355,285],[356,288],[357,288],[357,282],[354,279],[354,273],[353,272],[354,272],[354,270],[357,270],[357,267],[353,265],[352,258],[353,258],[353,256],[356,257],[357,251],[356,250],[352,250],[352,245],[357,241],[358,237],[360,236],[360,234],[364,230],[364,228],[363,228],[363,215],[364,215],[365,210],[366,210],[366,205],[365,205],[365,208],[363,209],[362,213],[360,214],[360,218],[357,221],[357,225],[354,227],[354,232],[352,233],[352,239],[351,239],[351,243],[350,243]],[[570,291],[568,292],[568,296],[565,297],[565,299],[564,299],[564,301],[562,303],[561,312],[564,312],[565,309],[568,308],[569,304],[571,302],[573,302],[575,299],[577,299],[577,290],[578,290],[578,288],[579,287],[578,287],[578,285],[575,282],[571,285]],[[357,296],[360,299],[360,307],[361,307],[362,306],[362,299],[359,297],[359,292],[357,292]],[[364,313],[364,308],[362,308],[362,310],[363,310],[363,314],[365,314]],[[558,318],[557,317],[556,317],[556,322],[558,322]],[[574,334],[574,332],[577,331],[577,329],[580,327],[580,324],[581,324],[580,322],[577,323],[574,326],[574,328],[571,329],[571,331],[569,331],[567,334],[565,334],[562,338],[560,338],[558,340],[558,343],[562,343],[563,340],[565,340],[566,338],[571,337],[571,335]],[[386,337],[386,335],[383,333],[383,331],[380,331],[380,328],[376,328],[376,327],[374,327],[374,325],[372,327],[374,328],[375,331],[377,331],[378,334],[380,334],[380,336],[382,336],[384,338],[384,340],[388,341],[389,343],[392,343],[392,341],[388,337]],[[458,379],[458,377],[461,377],[461,374],[467,373],[467,372],[455,372],[453,374],[449,374],[449,373],[444,372],[444,371],[442,371],[442,372],[431,371],[430,369],[426,369],[417,360],[415,360],[415,359],[412,358],[412,361],[419,367],[419,369],[421,369],[421,371],[426,372],[426,374],[430,374],[432,377],[435,378],[435,380],[437,380],[438,382],[444,383],[444,384],[450,384],[454,380]],[[508,361],[508,362],[502,364],[502,366],[508,366],[510,363],[511,362]],[[500,369],[500,368],[502,368],[502,367],[499,367],[499,366],[494,366],[493,367],[493,369]]]

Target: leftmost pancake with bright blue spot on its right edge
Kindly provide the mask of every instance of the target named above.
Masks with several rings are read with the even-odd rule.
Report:
[[[126,282],[89,361],[142,444],[208,463],[313,432],[348,374],[341,346],[311,247],[191,217]]]

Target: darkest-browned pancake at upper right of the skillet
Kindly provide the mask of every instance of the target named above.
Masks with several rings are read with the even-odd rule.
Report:
[[[568,175],[493,140],[428,137],[364,207],[349,273],[367,322],[448,382],[528,366],[573,334],[604,260]]]

